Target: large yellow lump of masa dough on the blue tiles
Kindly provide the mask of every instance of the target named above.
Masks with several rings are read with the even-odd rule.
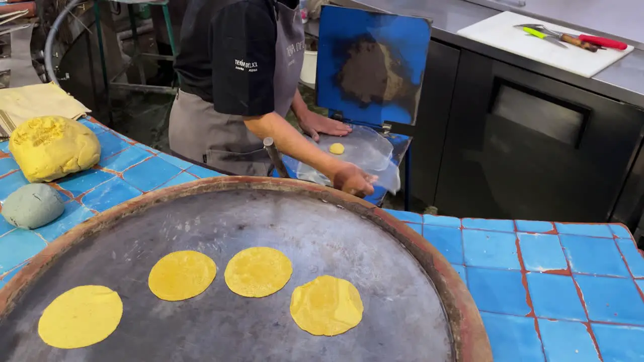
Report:
[[[100,159],[99,139],[91,129],[59,116],[23,122],[11,133],[9,151],[29,182],[51,182]]]

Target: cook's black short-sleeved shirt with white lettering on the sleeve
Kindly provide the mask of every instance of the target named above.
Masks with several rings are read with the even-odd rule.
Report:
[[[270,113],[275,43],[272,0],[192,0],[175,63],[181,89],[219,113]]]

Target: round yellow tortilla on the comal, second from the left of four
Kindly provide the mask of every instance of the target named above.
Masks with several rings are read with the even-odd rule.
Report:
[[[207,255],[197,251],[175,251],[156,262],[147,285],[162,300],[193,298],[213,282],[217,266]]]

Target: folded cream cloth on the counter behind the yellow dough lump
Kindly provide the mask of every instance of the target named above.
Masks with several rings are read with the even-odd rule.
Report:
[[[79,119],[91,112],[81,102],[53,83],[0,90],[0,140],[28,119],[61,116]]]

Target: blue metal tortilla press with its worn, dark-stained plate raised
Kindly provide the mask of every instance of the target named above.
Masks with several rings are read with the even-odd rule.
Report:
[[[405,209],[409,208],[412,137],[393,130],[395,124],[416,122],[430,33],[431,20],[421,17],[332,5],[323,6],[320,15],[317,106],[328,108],[332,119],[373,129],[379,134],[376,137],[388,140],[393,146],[390,161],[396,167],[406,159]],[[298,178],[292,159],[282,157],[289,176]],[[272,176],[279,174],[273,171]],[[365,200],[381,205],[385,195],[383,187],[375,186],[374,195]]]

